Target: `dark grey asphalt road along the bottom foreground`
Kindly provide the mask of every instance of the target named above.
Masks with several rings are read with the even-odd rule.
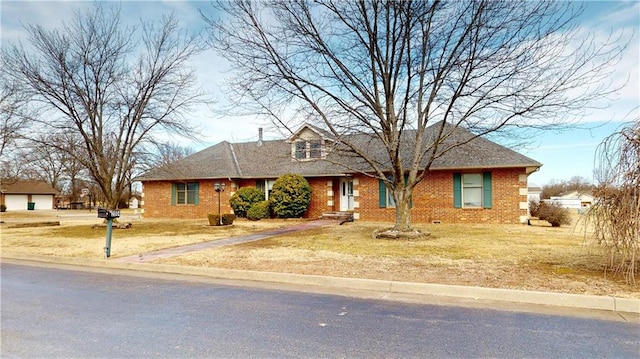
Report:
[[[640,324],[1,265],[2,358],[638,358]]]

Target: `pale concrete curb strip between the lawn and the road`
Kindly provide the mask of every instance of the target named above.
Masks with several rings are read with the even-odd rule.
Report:
[[[186,267],[168,264],[127,263],[113,260],[61,258],[31,255],[2,256],[2,259],[66,264],[91,268],[110,268],[138,272],[159,272],[209,277],[215,279],[246,280],[282,284],[309,285],[340,289],[356,289],[383,293],[417,294],[452,297],[478,301],[498,301],[520,304],[549,305],[580,309],[640,314],[640,299],[618,298],[583,294],[539,292],[500,288],[467,287],[460,285],[395,282],[377,279],[358,279],[305,275],[293,273],[260,272],[208,267]]]

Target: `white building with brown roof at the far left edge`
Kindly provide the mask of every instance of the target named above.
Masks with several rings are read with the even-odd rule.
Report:
[[[53,209],[57,191],[44,181],[2,180],[0,204],[7,211]]]

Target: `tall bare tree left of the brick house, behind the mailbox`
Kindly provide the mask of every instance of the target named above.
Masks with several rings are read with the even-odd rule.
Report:
[[[31,47],[7,46],[1,65],[39,106],[34,122],[81,138],[82,151],[70,154],[114,208],[137,148],[160,131],[193,135],[183,115],[202,99],[188,67],[200,42],[182,32],[173,16],[130,27],[121,23],[119,8],[100,3],[75,13],[60,30],[26,29]]]

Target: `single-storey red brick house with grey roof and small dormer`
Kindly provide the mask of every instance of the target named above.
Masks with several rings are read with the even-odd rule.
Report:
[[[432,135],[435,125],[427,131]],[[214,183],[225,183],[222,212],[231,212],[229,198],[240,187],[260,188],[268,198],[274,181],[283,174],[303,175],[313,188],[305,217],[349,211],[354,219],[393,222],[394,202],[382,181],[353,170],[366,171],[357,157],[345,157],[327,132],[304,125],[285,140],[218,143],[171,165],[137,178],[143,184],[141,207],[146,217],[205,218],[218,208]],[[455,138],[454,138],[455,137]],[[473,135],[456,130],[452,141]],[[369,145],[367,153],[385,162],[382,146],[370,136],[350,140]],[[443,144],[444,146],[444,144]],[[408,156],[415,145],[401,151]],[[336,164],[351,158],[347,169]],[[414,223],[490,222],[527,220],[527,177],[541,164],[484,138],[476,138],[437,158],[430,173],[413,192]]]

